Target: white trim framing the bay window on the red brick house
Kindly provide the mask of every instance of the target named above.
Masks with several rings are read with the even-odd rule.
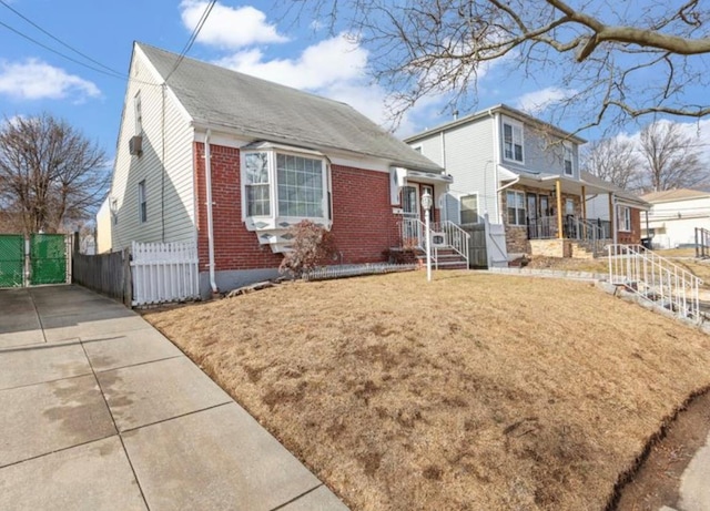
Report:
[[[271,214],[267,216],[253,216],[253,215],[248,215],[248,207],[247,207],[247,197],[246,197],[246,180],[245,180],[245,164],[244,164],[244,157],[246,154],[248,153],[267,153],[268,154],[268,159],[267,159],[267,167],[268,167],[268,201],[270,201],[270,212]],[[278,180],[277,180],[277,172],[276,172],[276,155],[277,154],[285,154],[285,155],[292,155],[292,156],[300,156],[300,157],[307,157],[311,160],[321,160],[321,164],[322,164],[322,168],[323,168],[323,174],[322,174],[322,180],[323,180],[323,197],[322,197],[322,206],[321,209],[323,212],[323,216],[316,217],[316,216],[283,216],[281,215],[281,212],[278,211]],[[312,152],[312,151],[293,151],[290,149],[284,149],[282,146],[273,146],[273,145],[267,145],[267,146],[263,146],[263,147],[253,147],[253,149],[242,149],[242,151],[240,151],[240,167],[241,167],[241,172],[240,172],[240,180],[241,180],[241,191],[242,191],[242,221],[245,222],[250,218],[253,219],[271,219],[272,222],[277,222],[277,221],[286,221],[290,223],[297,223],[302,219],[310,219],[313,222],[326,222],[329,224],[331,218],[332,218],[332,204],[331,204],[331,196],[332,196],[332,190],[331,190],[331,165],[328,164],[327,159],[321,154],[321,153],[316,153],[316,152]]]

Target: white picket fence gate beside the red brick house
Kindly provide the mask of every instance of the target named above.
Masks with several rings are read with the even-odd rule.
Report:
[[[197,246],[194,243],[132,245],[133,306],[200,297]]]

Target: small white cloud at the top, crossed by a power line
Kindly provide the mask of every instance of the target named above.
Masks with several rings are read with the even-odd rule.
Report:
[[[187,30],[196,27],[206,6],[204,0],[183,0],[180,4],[181,18]],[[258,43],[285,42],[287,38],[280,34],[275,25],[267,23],[266,14],[258,9],[215,3],[197,41],[234,50]]]

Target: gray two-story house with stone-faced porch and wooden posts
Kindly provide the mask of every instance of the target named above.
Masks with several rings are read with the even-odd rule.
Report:
[[[489,264],[525,255],[588,257],[615,239],[638,243],[638,212],[621,206],[617,211],[627,216],[617,223],[609,208],[606,216],[588,209],[592,197],[620,205],[625,194],[581,174],[585,140],[524,112],[499,104],[405,142],[453,176],[444,218],[467,225],[488,216],[498,227],[491,232],[501,239],[487,234]]]

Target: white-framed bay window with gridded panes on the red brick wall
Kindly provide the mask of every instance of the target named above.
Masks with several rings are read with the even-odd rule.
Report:
[[[242,154],[245,216],[326,217],[325,159],[271,147]]]

